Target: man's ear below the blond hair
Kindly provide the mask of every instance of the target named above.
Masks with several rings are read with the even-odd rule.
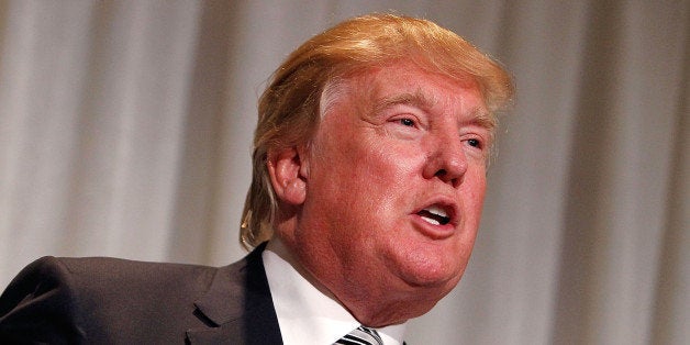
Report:
[[[307,198],[305,174],[309,169],[297,147],[269,153],[268,174],[274,191],[280,201],[291,205],[304,203]]]

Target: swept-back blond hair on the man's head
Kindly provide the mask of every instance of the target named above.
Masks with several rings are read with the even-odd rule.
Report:
[[[258,103],[253,178],[242,214],[241,243],[257,246],[272,236],[278,203],[268,175],[269,152],[305,145],[320,123],[325,89],[335,80],[397,59],[452,78],[472,77],[493,114],[512,98],[510,76],[455,33],[433,22],[393,14],[344,21],[297,48],[274,73]]]

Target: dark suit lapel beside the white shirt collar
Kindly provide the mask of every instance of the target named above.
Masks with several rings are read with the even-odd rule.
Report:
[[[191,344],[282,344],[258,246],[218,270],[208,293],[194,302],[209,327],[187,331]]]

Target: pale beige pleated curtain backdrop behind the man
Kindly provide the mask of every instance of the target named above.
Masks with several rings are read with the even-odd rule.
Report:
[[[408,341],[688,344],[688,0],[0,0],[0,286],[43,255],[242,257],[265,80],[387,10],[466,36],[519,90],[470,267]]]

